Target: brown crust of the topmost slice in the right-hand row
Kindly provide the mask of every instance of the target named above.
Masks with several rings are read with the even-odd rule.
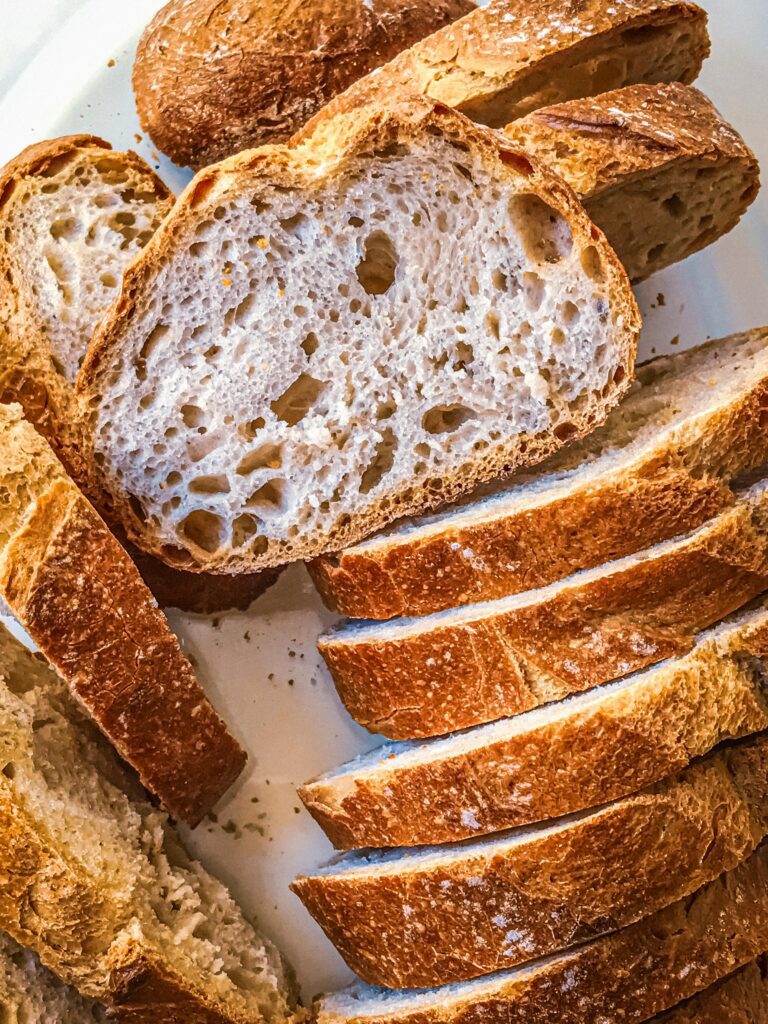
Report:
[[[768,340],[768,328],[734,336],[742,337]],[[733,477],[765,461],[767,406],[764,378],[727,408],[691,418],[668,444],[561,498],[461,527],[449,521],[423,536],[384,537],[315,559],[309,570],[330,607],[360,618],[425,615],[547,586],[700,526],[731,505]]]

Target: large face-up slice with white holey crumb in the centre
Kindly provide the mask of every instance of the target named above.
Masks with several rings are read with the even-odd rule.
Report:
[[[125,282],[78,383],[94,486],[218,571],[541,460],[624,394],[639,327],[559,178],[418,97],[202,172]]]

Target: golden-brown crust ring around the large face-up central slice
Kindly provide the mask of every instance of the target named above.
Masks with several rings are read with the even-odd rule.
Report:
[[[524,187],[527,193],[543,197],[571,228],[575,246],[594,246],[602,261],[607,294],[612,300],[612,314],[616,321],[616,362],[612,380],[606,382],[605,395],[595,397],[584,410],[571,414],[570,438],[583,436],[602,421],[630,386],[634,371],[640,314],[629,287],[624,268],[601,232],[584,213],[573,193],[556,175],[543,165],[530,161],[524,154],[505,148],[498,133],[473,125],[447,108],[426,102],[413,95],[392,95],[386,104],[373,103],[367,108],[341,110],[336,118],[318,122],[315,133],[303,144],[292,143],[284,147],[263,147],[251,154],[231,158],[213,168],[208,168],[191,182],[179,198],[174,212],[155,234],[141,257],[128,268],[120,300],[101,322],[78,378],[80,411],[89,424],[86,462],[90,470],[90,487],[98,496],[99,506],[109,508],[117,517],[128,537],[143,550],[168,561],[173,557],[168,545],[151,525],[140,519],[125,494],[115,493],[114,481],[108,479],[103,465],[94,458],[95,436],[93,425],[98,413],[99,392],[109,385],[113,360],[123,357],[121,343],[125,325],[136,314],[150,293],[153,281],[184,238],[189,225],[215,210],[228,195],[243,189],[260,187],[265,180],[270,186],[293,188],[312,187],[316,175],[312,165],[328,167],[328,175],[342,175],[349,162],[362,153],[385,147],[393,141],[420,138],[437,129],[461,144],[469,144],[478,157],[487,162],[492,173],[503,175],[510,185]],[[605,390],[605,389],[604,389]],[[307,558],[353,543],[384,526],[399,515],[408,515],[434,507],[470,489],[485,480],[506,475],[521,465],[539,462],[548,454],[562,446],[564,438],[554,431],[536,436],[514,436],[500,440],[485,452],[478,454],[471,466],[445,472],[441,478],[409,481],[397,490],[383,493],[378,504],[365,512],[345,516],[341,512],[334,525],[323,538],[311,543],[299,537],[282,542],[280,550],[274,545],[266,553],[257,551],[239,554],[229,550],[210,553],[178,538],[185,545],[184,567],[194,570],[243,572],[253,571],[273,564]],[[113,489],[114,488],[114,489]],[[178,554],[178,552],[177,552]]]

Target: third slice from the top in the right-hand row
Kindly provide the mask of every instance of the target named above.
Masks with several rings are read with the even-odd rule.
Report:
[[[338,849],[452,843],[635,793],[768,729],[768,607],[616,683],[443,739],[385,743],[299,791]]]

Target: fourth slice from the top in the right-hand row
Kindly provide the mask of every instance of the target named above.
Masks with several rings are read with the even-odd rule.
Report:
[[[347,854],[293,889],[364,981],[421,988],[623,928],[735,867],[767,833],[761,735],[587,814]]]

